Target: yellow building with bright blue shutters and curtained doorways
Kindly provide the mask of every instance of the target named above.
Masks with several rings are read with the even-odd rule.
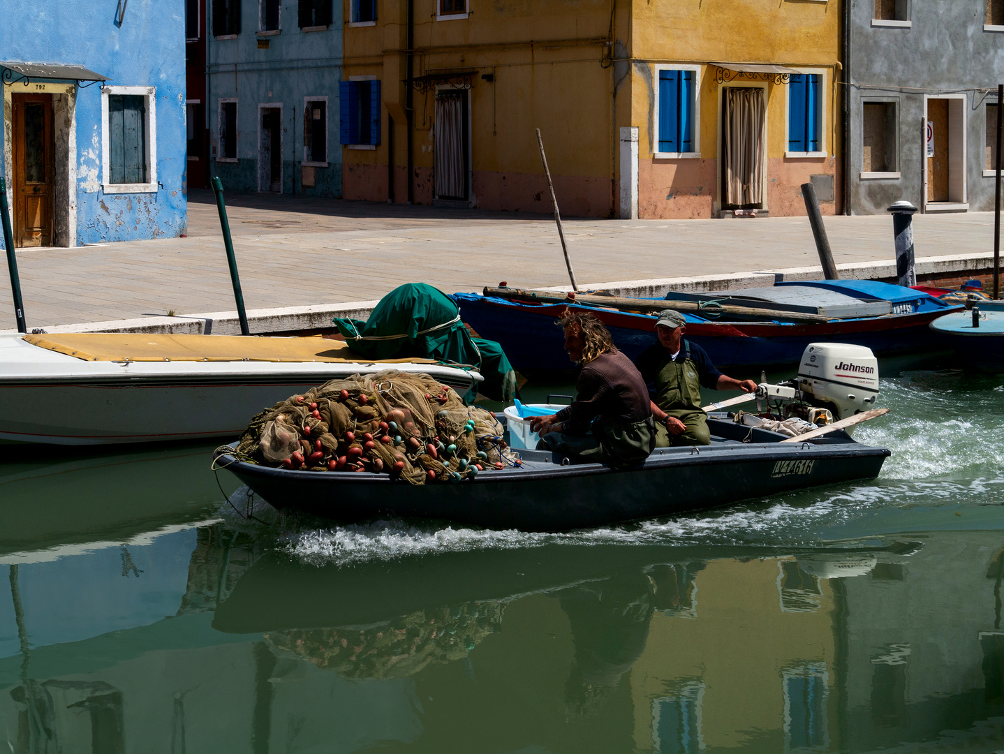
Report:
[[[563,214],[841,211],[840,0],[349,0],[343,196]],[[389,166],[393,166],[389,167]]]

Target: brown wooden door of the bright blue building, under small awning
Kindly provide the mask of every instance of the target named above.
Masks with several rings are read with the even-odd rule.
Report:
[[[52,95],[13,94],[14,245],[51,246]]]

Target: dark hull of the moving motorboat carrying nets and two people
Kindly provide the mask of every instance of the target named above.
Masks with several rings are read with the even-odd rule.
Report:
[[[500,421],[504,418],[499,415]],[[708,420],[712,444],[659,448],[643,465],[565,465],[556,454],[520,451],[522,464],[458,484],[415,486],[386,474],[291,471],[237,461],[216,463],[274,508],[339,522],[388,516],[453,521],[490,529],[565,531],[716,508],[791,490],[871,479],[890,455],[842,430],[804,442],[732,422]]]

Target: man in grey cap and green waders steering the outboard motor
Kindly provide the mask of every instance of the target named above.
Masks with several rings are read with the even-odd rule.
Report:
[[[719,371],[704,348],[684,339],[684,315],[663,309],[656,322],[659,342],[638,359],[645,382],[655,385],[652,414],[656,419],[656,447],[710,445],[708,415],[701,410],[701,387],[708,390],[756,391],[752,380],[733,380]]]

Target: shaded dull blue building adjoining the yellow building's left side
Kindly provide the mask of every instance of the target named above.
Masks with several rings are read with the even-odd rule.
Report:
[[[226,190],[340,197],[340,0],[208,10],[211,173]]]

